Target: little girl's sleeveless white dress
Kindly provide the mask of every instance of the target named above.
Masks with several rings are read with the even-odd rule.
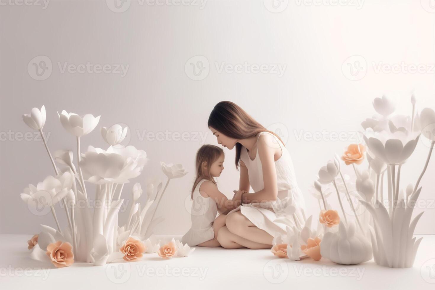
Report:
[[[181,238],[181,242],[189,246],[196,246],[214,238],[213,222],[218,213],[218,207],[211,197],[203,197],[199,193],[199,188],[204,181],[206,179],[201,180],[195,187],[191,207],[192,226]]]

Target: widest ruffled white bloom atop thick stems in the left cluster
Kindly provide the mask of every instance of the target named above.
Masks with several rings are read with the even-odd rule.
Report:
[[[127,183],[141,174],[147,160],[147,153],[134,146],[110,146],[107,150],[89,146],[82,154],[80,167],[90,183]]]

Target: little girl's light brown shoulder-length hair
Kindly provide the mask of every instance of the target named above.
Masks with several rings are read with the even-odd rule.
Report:
[[[222,154],[224,154],[224,150],[222,150],[222,148],[210,144],[202,145],[198,149],[195,160],[196,177],[191,193],[192,199],[195,188],[202,179],[210,180],[216,184],[216,181],[214,181],[214,178],[210,174],[210,167],[211,164],[218,160]],[[207,169],[204,169],[204,162],[207,162]]]

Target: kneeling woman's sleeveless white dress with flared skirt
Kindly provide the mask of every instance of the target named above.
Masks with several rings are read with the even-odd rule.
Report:
[[[261,132],[258,137],[261,134],[273,136],[275,142],[269,145],[279,146],[282,150],[281,157],[275,161],[278,199],[274,202],[242,204],[228,214],[240,210],[256,227],[275,237],[278,234],[285,234],[287,226],[293,227],[305,223],[305,200],[296,182],[290,153],[274,134]],[[241,160],[248,168],[249,183],[254,192],[264,189],[263,170],[258,150],[254,160],[251,160],[246,148],[242,147]],[[288,207],[290,204],[291,208]]]

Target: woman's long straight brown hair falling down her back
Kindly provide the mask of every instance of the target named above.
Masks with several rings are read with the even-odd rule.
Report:
[[[241,107],[230,101],[222,101],[214,106],[210,117],[208,117],[208,127],[213,127],[225,136],[234,139],[246,139],[254,137],[260,132],[269,132],[282,142],[277,134],[264,128]],[[284,142],[282,143],[284,144]],[[240,166],[241,148],[241,143],[236,143],[237,169]]]

